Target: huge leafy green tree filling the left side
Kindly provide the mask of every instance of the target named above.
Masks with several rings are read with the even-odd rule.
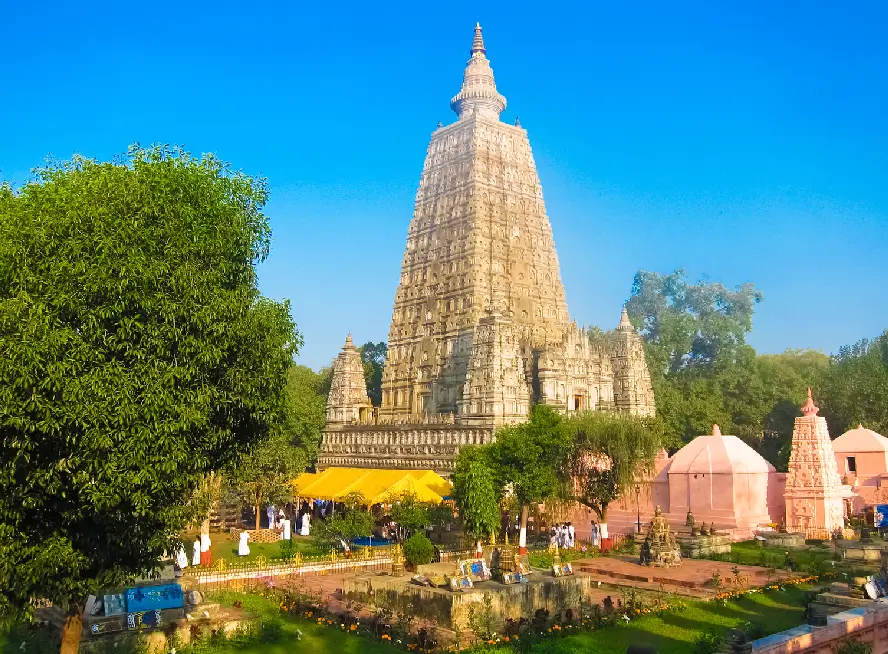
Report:
[[[131,148],[0,191],[0,611],[158,566],[203,481],[286,420],[300,339],[263,299],[264,181]]]

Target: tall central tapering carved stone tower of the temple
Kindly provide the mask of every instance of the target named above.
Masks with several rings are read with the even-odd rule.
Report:
[[[490,312],[530,348],[558,343],[567,303],[527,132],[506,106],[475,27],[459,120],[426,153],[395,292],[382,416],[455,413],[475,328]],[[528,397],[530,390],[527,391]]]

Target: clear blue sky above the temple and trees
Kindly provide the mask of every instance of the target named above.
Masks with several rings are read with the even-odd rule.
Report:
[[[387,337],[431,132],[475,21],[528,130],[572,317],[613,327],[644,268],[764,293],[750,342],[888,327],[888,4],[14,2],[0,179],[132,142],[268,178],[266,295],[300,360]]]

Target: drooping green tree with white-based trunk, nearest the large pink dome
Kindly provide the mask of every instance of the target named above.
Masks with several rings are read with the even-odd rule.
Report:
[[[607,538],[608,506],[653,473],[662,426],[656,418],[593,411],[566,419],[563,433],[570,449],[562,477],[571,480],[572,499],[598,516]]]

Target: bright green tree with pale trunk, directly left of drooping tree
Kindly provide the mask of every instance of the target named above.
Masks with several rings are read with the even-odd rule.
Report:
[[[561,433],[561,416],[537,405],[530,420],[497,431],[488,457],[501,486],[510,485],[521,507],[519,546],[527,546],[527,518],[531,504],[562,495],[560,465],[566,452]]]

